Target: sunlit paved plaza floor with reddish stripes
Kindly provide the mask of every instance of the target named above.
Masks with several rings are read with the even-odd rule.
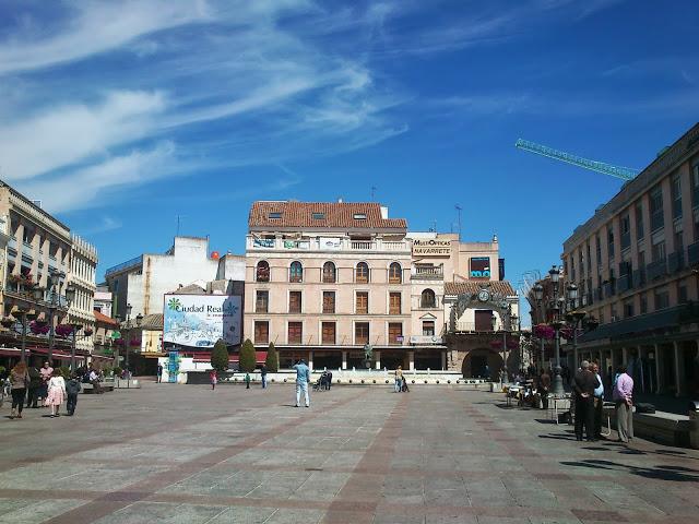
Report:
[[[458,388],[145,384],[0,412],[11,523],[697,522],[699,452],[576,442]]]

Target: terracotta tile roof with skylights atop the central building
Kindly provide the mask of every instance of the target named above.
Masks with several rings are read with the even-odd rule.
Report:
[[[271,214],[280,213],[280,218]],[[313,218],[313,213],[317,217]],[[366,218],[355,218],[355,215]],[[322,216],[322,217],[321,217]],[[406,229],[404,218],[382,218],[376,202],[254,202],[248,217],[250,228],[370,228]]]

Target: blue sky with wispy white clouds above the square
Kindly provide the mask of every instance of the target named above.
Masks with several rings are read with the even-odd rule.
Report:
[[[0,178],[100,252],[242,252],[258,199],[370,199],[546,270],[699,112],[694,1],[0,0]]]

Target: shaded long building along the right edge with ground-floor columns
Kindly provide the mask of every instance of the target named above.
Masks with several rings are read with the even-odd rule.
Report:
[[[623,364],[637,391],[699,393],[699,123],[576,228],[562,261],[600,321],[581,358]]]

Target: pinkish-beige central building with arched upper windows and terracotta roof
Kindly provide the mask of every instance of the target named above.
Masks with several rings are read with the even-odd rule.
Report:
[[[262,201],[248,227],[244,322],[258,350],[274,343],[282,368],[363,368],[367,346],[377,369],[415,365],[405,219],[378,203]],[[431,349],[418,360],[439,369]]]

